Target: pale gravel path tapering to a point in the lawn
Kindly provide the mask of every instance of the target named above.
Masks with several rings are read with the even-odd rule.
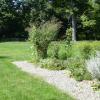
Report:
[[[39,68],[27,61],[13,62],[13,64],[27,73],[41,76],[46,82],[55,85],[64,92],[72,94],[77,100],[100,100],[100,92],[92,90],[91,81],[77,82],[70,78],[65,70],[50,71]]]

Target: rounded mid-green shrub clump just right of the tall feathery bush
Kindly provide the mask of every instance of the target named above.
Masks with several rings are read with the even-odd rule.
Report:
[[[72,48],[67,42],[52,42],[47,54],[51,58],[66,60],[72,56]]]

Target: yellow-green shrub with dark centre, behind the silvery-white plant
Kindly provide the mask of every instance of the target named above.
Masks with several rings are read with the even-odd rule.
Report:
[[[72,46],[73,57],[80,59],[90,59],[96,54],[96,50],[91,42],[77,42]]]

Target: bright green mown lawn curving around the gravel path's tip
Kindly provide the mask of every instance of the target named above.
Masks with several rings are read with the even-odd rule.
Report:
[[[19,70],[11,61],[31,60],[28,42],[0,43],[0,100],[73,100],[36,76]]]

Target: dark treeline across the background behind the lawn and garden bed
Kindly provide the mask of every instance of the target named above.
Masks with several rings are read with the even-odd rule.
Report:
[[[77,40],[100,40],[99,0],[0,0],[0,40],[27,39],[27,28],[52,17],[62,23],[58,39],[72,27]]]

